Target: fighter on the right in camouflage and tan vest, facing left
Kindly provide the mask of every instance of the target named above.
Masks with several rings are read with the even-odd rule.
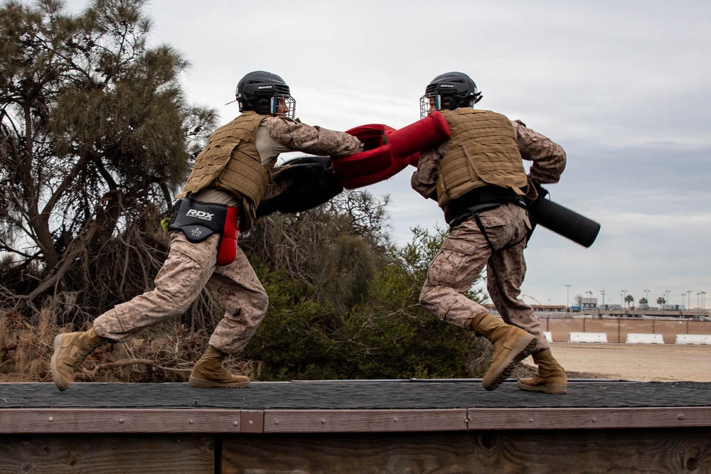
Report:
[[[486,389],[496,388],[531,353],[538,373],[520,379],[518,387],[564,394],[565,371],[552,357],[533,308],[518,296],[531,230],[523,202],[535,200],[535,185],[557,183],[565,151],[521,122],[474,109],[479,99],[476,85],[461,72],[436,77],[422,97],[422,114],[439,109],[451,136],[420,153],[412,188],[437,200],[451,232],[429,266],[419,302],[442,321],[491,340]],[[528,176],[522,158],[533,162]],[[504,323],[464,296],[485,266],[486,288]]]

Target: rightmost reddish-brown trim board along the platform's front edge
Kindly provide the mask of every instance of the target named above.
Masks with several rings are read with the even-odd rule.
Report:
[[[469,429],[629,429],[711,426],[711,406],[469,409]]]

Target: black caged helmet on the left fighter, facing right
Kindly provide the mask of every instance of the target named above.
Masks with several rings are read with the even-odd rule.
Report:
[[[289,94],[289,86],[276,74],[254,71],[242,77],[237,83],[235,97],[240,104],[240,112],[252,110],[262,115],[282,115],[294,118],[296,101]],[[279,107],[288,109],[282,112]]]

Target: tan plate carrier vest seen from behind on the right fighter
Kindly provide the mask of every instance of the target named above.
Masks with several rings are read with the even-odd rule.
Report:
[[[486,185],[509,188],[522,197],[528,177],[510,120],[479,109],[442,110],[447,119],[449,146],[439,162],[437,200],[449,215],[449,203]]]

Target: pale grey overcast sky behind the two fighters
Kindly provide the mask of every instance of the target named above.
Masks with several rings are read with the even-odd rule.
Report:
[[[711,2],[152,0],[145,11],[150,42],[191,63],[188,100],[220,124],[253,70],[289,84],[302,122],[336,130],[416,122],[424,87],[465,72],[483,93],[476,107],[563,146],[550,198],[602,225],[589,248],[535,230],[526,303],[602,304],[604,291],[606,304],[711,307]],[[412,227],[445,227],[412,171],[367,188],[390,196],[400,244]]]

